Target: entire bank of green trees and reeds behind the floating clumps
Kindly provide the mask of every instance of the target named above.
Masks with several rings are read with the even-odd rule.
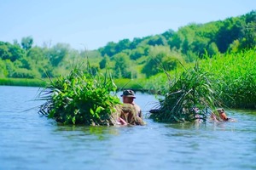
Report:
[[[28,82],[65,77],[89,59],[90,73],[96,76],[110,71],[119,89],[148,89],[164,94],[166,89],[170,91],[168,77],[189,71],[196,61],[201,71],[210,73],[212,89],[220,89],[223,105],[255,109],[255,18],[256,11],[251,11],[132,41],[108,42],[90,51],[75,50],[66,43],[34,46],[32,37],[0,42],[0,84],[40,86]]]

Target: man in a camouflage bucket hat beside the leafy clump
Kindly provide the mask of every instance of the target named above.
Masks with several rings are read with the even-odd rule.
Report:
[[[132,90],[125,90],[121,97],[123,97],[123,103],[133,105],[135,107],[137,116],[143,119],[143,111],[141,110],[140,106],[134,102],[134,99],[136,99],[134,92]]]

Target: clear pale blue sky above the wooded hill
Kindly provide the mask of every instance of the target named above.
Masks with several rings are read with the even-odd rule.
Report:
[[[96,49],[253,9],[255,0],[0,0],[0,41],[32,36],[38,46],[67,42]]]

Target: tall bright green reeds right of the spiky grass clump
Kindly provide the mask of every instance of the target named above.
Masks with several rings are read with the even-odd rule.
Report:
[[[201,60],[203,71],[212,72],[214,88],[221,90],[224,105],[256,108],[256,48]]]

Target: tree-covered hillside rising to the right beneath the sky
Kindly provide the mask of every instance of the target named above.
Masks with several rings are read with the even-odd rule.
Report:
[[[43,47],[32,37],[20,42],[0,40],[0,78],[45,78],[67,74],[90,59],[92,72],[109,69],[115,78],[148,78],[217,54],[236,53],[256,44],[256,11],[206,24],[191,23],[177,31],[108,42],[92,51],[66,43]]]

